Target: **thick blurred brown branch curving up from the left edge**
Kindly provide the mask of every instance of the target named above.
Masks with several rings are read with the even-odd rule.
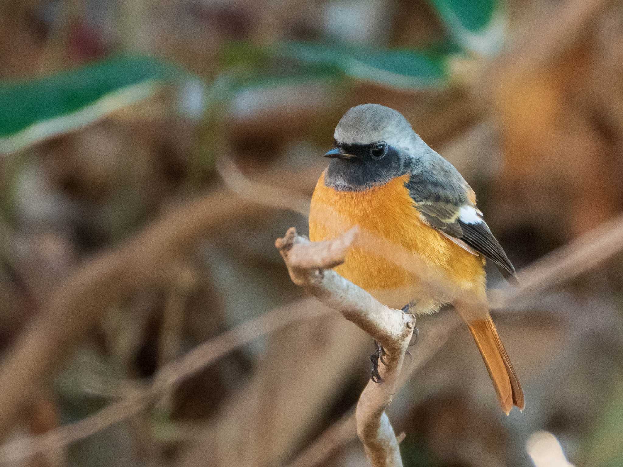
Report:
[[[169,265],[232,216],[255,216],[259,205],[208,194],[164,214],[125,245],[78,267],[42,306],[0,367],[0,440],[33,390],[44,384],[107,306],[166,280]]]

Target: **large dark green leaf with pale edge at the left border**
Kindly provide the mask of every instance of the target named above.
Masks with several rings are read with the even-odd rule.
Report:
[[[119,56],[55,75],[0,82],[0,153],[75,131],[190,75],[150,57]]]

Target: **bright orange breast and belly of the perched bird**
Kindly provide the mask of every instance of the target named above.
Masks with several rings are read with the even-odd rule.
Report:
[[[310,240],[360,229],[345,263],[335,268],[340,275],[392,308],[417,301],[416,313],[437,311],[467,290],[483,293],[483,258],[421,219],[404,186],[408,175],[366,191],[336,191],[325,186],[324,176],[312,197]]]

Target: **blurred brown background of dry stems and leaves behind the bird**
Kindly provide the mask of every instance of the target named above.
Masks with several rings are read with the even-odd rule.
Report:
[[[460,10],[470,2],[447,3]],[[2,156],[5,358],[80,265],[197,197],[212,196],[230,212],[174,267],[163,261],[158,285],[146,280],[110,303],[102,291],[105,312],[71,339],[62,365],[29,388],[35,395],[6,440],[85,418],[193,347],[272,309],[282,307],[278,316],[320,307],[300,302],[305,295],[289,280],[274,240],[292,225],[307,232],[293,206],[304,211],[333,128],[353,105],[401,111],[475,189],[518,269],[619,214],[623,3],[473,2],[503,14],[492,47],[457,39],[440,14],[443,4],[0,0],[5,85],[120,52],[157,57],[199,78],[166,83],[88,126]],[[433,50],[444,68],[421,86],[396,85],[378,70],[369,78],[336,72],[335,63],[312,72],[300,57],[272,52],[295,41],[330,43],[340,66],[352,57],[349,47],[360,47],[379,56]],[[392,73],[403,65],[413,74],[409,64]],[[222,91],[219,83],[229,79],[234,84]],[[417,370],[388,410],[407,435],[404,464],[533,465],[526,443],[546,430],[574,465],[623,465],[620,259],[613,252],[599,267],[495,313],[526,392],[523,413],[499,410],[452,311],[419,319],[422,340],[405,369]],[[497,271],[489,284],[503,286]],[[346,420],[369,378],[371,337],[335,314],[259,334],[138,414],[7,465],[366,465],[353,427],[335,432],[334,423]],[[14,383],[0,381],[0,392]],[[554,450],[548,442],[546,450]]]

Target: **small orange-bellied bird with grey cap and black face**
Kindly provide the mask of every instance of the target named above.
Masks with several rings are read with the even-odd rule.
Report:
[[[310,240],[330,240],[357,226],[357,240],[335,271],[381,303],[416,316],[454,306],[502,410],[523,410],[523,390],[489,313],[485,261],[512,285],[515,268],[472,188],[392,108],[354,106],[333,136],[325,154],[331,161],[313,191]],[[374,371],[373,365],[378,380]]]

